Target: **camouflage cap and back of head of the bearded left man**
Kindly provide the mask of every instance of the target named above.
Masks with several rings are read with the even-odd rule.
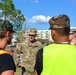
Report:
[[[14,33],[13,25],[7,20],[0,20],[0,38],[3,38],[6,34],[6,32],[9,31],[11,33]]]

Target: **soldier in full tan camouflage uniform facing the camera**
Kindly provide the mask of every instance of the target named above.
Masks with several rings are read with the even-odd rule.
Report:
[[[19,50],[23,55],[19,66],[22,67],[22,70],[25,71],[24,75],[37,75],[34,70],[35,59],[37,51],[43,47],[42,43],[37,41],[35,37],[37,36],[37,30],[35,28],[31,28],[28,31],[28,40],[23,42],[19,46]],[[22,71],[22,75],[23,75]]]

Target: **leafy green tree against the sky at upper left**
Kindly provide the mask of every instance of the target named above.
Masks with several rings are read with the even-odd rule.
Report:
[[[15,9],[12,0],[0,0],[0,17],[9,20],[14,24],[14,29],[21,30],[22,24],[26,21],[21,10]]]

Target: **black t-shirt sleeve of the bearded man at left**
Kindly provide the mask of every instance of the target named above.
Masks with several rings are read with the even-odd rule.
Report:
[[[9,54],[0,55],[0,75],[2,72],[7,70],[13,70],[14,72],[16,71],[14,60]]]

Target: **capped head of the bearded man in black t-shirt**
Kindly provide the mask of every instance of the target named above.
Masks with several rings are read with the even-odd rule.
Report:
[[[15,31],[13,30],[13,25],[7,20],[0,20],[0,39],[7,39],[7,44],[11,43],[12,40],[12,33]]]

